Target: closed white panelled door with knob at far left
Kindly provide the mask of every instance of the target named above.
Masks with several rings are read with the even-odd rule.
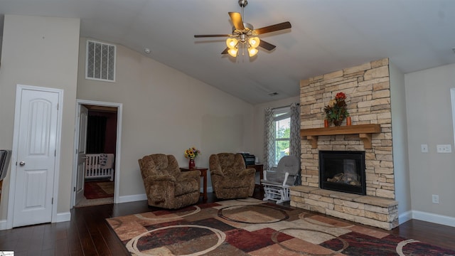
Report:
[[[22,88],[18,94],[14,227],[52,220],[58,135],[59,93]]]

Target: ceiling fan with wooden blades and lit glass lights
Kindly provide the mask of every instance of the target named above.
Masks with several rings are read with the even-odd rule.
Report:
[[[226,45],[228,46],[223,50],[221,54],[228,53],[232,57],[237,57],[239,46],[247,46],[248,55],[250,57],[257,54],[257,47],[264,48],[266,50],[273,50],[277,46],[267,43],[266,41],[260,40],[258,35],[264,33],[270,33],[274,31],[280,31],[283,29],[291,28],[291,23],[285,21],[282,23],[277,23],[271,26],[265,26],[263,28],[254,29],[250,23],[244,23],[242,20],[243,9],[247,6],[247,0],[239,0],[239,5],[242,7],[242,14],[237,12],[229,12],[230,19],[232,24],[232,34],[218,34],[218,35],[195,35],[195,38],[210,38],[210,37],[228,37],[226,39]]]

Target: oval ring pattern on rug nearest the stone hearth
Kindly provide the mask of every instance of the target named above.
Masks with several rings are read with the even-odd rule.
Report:
[[[267,215],[272,216],[274,220],[264,220],[261,219],[261,212],[264,211],[264,208],[267,209]],[[250,211],[252,213],[258,213],[254,215],[256,220],[247,220],[247,219],[239,219],[237,218],[237,213],[245,213]],[[283,220],[287,220],[289,215],[285,210],[281,210],[279,208],[274,208],[270,206],[264,206],[262,204],[255,204],[255,205],[245,205],[245,206],[227,206],[225,208],[220,208],[218,210],[218,217],[223,218],[225,220],[230,220],[236,223],[247,223],[247,224],[264,224],[264,223],[277,223]],[[237,219],[236,219],[237,218]]]

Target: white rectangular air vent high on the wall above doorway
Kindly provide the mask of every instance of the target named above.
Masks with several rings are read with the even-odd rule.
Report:
[[[114,45],[87,41],[85,78],[115,82],[115,55]]]

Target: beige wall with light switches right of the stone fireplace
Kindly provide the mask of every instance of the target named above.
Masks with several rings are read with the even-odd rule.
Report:
[[[455,157],[450,89],[455,65],[405,75],[408,151],[414,218],[432,221],[437,215],[455,220]],[[420,145],[428,144],[428,153]],[[437,144],[451,144],[452,153],[436,152]],[[439,195],[439,204],[432,203]]]

